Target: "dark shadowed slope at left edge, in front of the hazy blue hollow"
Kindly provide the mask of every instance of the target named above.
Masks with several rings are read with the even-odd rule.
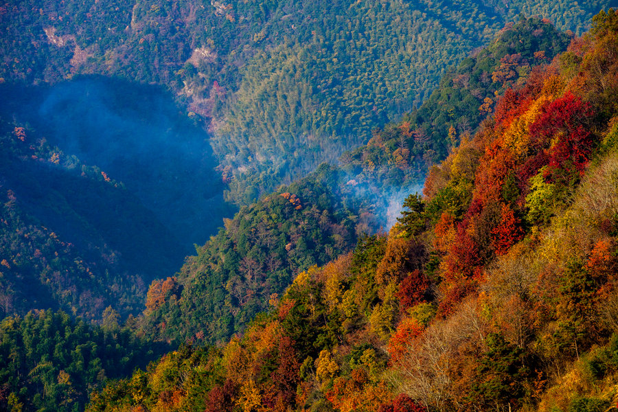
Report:
[[[104,170],[0,120],[0,312],[101,319],[178,267],[174,235]],[[130,233],[130,236],[128,236]]]

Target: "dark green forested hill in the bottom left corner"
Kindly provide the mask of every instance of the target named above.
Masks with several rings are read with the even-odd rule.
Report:
[[[65,312],[30,312],[0,323],[0,408],[82,411],[89,392],[145,367],[169,347],[137,338],[108,309],[102,327]]]

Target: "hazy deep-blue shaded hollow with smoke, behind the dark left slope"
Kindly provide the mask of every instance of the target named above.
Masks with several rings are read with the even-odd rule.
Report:
[[[176,253],[166,254],[176,268],[236,211],[223,201],[225,183],[215,170],[209,134],[179,113],[161,87],[76,76],[52,87],[0,84],[0,94],[5,121],[27,126],[67,156],[122,182],[170,231],[160,240],[178,244]]]

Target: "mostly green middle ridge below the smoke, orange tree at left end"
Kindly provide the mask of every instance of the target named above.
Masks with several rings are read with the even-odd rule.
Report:
[[[352,249],[378,229],[345,174],[322,165],[305,179],[242,207],[176,278],[153,282],[143,330],[163,339],[214,343],[244,328],[299,271]]]

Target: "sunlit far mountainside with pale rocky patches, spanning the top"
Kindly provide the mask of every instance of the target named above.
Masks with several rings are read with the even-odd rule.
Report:
[[[14,1],[0,8],[0,78],[165,85],[208,119],[228,198],[247,204],[366,142],[521,12],[579,33],[610,3]]]

